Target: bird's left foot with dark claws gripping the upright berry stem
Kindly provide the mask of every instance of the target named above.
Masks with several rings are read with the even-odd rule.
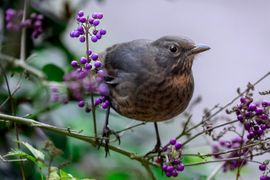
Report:
[[[118,135],[118,133],[116,133],[115,131],[111,130],[108,126],[105,126],[103,128],[102,138],[99,140],[99,148],[102,145],[104,146],[105,157],[107,157],[108,155],[110,155],[110,151],[109,151],[110,135],[114,135],[115,138],[117,139],[118,143],[119,144],[121,143],[120,136]]]

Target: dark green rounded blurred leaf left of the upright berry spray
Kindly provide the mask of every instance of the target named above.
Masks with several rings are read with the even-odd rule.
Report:
[[[47,64],[42,68],[49,81],[63,81],[64,71],[54,64]]]

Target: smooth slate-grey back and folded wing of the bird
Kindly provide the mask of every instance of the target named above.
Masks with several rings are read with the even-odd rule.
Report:
[[[138,75],[149,69],[147,64],[150,62],[146,40],[116,44],[108,48],[104,56],[104,65],[108,72],[107,82],[116,84],[134,81]]]

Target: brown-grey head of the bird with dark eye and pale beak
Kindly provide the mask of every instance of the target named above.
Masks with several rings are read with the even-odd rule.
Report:
[[[155,61],[158,66],[173,74],[191,72],[195,55],[210,49],[206,45],[195,45],[192,40],[178,36],[164,36],[151,45],[155,47]]]

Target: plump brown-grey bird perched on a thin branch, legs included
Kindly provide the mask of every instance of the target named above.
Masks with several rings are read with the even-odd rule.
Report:
[[[181,36],[138,39],[106,49],[104,68],[110,106],[122,116],[154,123],[157,142],[149,153],[161,148],[157,122],[170,120],[187,108],[194,90],[193,60],[209,49]],[[110,108],[103,137],[114,134],[108,127],[109,113]],[[105,150],[107,156],[108,147]]]

